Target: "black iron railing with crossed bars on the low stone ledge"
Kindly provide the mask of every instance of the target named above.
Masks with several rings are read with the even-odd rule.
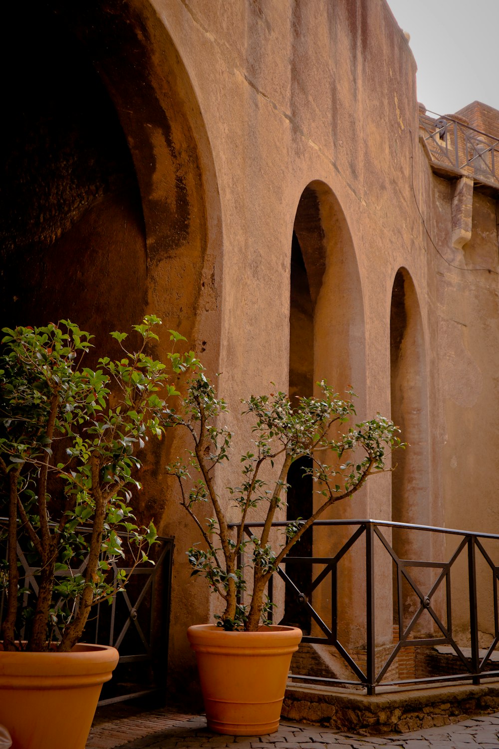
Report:
[[[273,525],[278,533],[286,523]],[[248,524],[245,532],[251,536],[262,526]],[[310,633],[303,642],[329,646],[352,678],[293,670],[293,681],[362,687],[375,694],[380,685],[478,684],[499,676],[499,536],[385,521],[324,520],[313,525],[313,548],[317,545],[329,545],[331,555],[290,555],[277,573],[287,598],[292,591],[310,615]],[[409,550],[413,558],[402,556]],[[426,558],[420,558],[423,554]],[[347,557],[349,567],[342,571]],[[312,570],[307,589],[296,586],[293,565]],[[276,598],[272,580],[268,592]],[[388,609],[393,614],[391,640],[386,636]],[[284,616],[281,623],[293,622]],[[480,635],[482,640],[489,637],[486,644],[480,643],[479,628],[490,632]],[[349,643],[352,639],[357,641]],[[400,664],[408,649],[414,649],[409,674]]]

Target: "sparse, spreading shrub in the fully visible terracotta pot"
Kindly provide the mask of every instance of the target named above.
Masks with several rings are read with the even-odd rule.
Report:
[[[242,401],[242,434],[252,438],[241,455],[232,449],[234,435],[224,425],[227,404],[203,372],[192,377],[180,409],[170,409],[165,422],[182,427],[191,439],[188,459],[168,471],[177,478],[180,503],[203,539],[189,549],[192,575],[206,577],[223,604],[217,625],[196,625],[188,632],[208,726],[218,733],[278,730],[301,631],[269,625],[269,579],[313,521],[352,497],[371,475],[387,470],[387,456],[400,446],[399,430],[379,414],[345,426],[355,416],[353,392],[340,398],[325,382],[319,386],[319,398],[297,398],[293,404],[283,392]],[[309,518],[287,524],[281,538],[275,530],[272,537],[272,521],[285,505],[288,470],[303,456],[316,486],[316,509]],[[237,468],[230,468],[234,462]],[[234,515],[239,516],[236,527],[228,521]],[[255,519],[264,521],[263,527],[248,538],[245,523]],[[241,567],[243,553],[248,561]],[[247,589],[248,604],[242,604]]]

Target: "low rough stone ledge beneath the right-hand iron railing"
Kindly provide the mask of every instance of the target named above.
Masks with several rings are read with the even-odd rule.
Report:
[[[344,689],[288,685],[282,715],[356,733],[407,733],[498,712],[499,681],[486,685],[399,689],[367,697]]]

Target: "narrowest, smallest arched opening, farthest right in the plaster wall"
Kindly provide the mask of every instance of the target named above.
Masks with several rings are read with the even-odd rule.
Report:
[[[394,279],[390,314],[391,417],[399,426],[408,449],[397,451],[397,465],[392,473],[392,520],[399,523],[430,525],[429,434],[426,349],[423,321],[416,289],[405,268]],[[402,560],[430,560],[429,533],[394,529],[394,550]],[[415,565],[408,567],[421,589],[427,589],[429,571]],[[394,581],[395,583],[395,581]],[[401,600],[394,584],[394,621],[398,613],[406,626],[420,606],[420,601],[405,581]],[[429,616],[423,615],[419,632],[432,629]]]

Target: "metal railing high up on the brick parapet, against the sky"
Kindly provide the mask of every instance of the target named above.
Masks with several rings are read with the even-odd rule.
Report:
[[[499,188],[499,139],[449,115],[420,115],[420,133],[432,166]]]

